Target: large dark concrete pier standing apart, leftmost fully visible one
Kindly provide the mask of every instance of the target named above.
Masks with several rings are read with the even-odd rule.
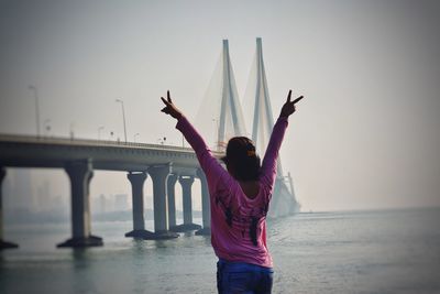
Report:
[[[89,186],[94,176],[91,160],[73,161],[66,164],[65,171],[72,186],[72,238],[57,247],[102,246],[102,238],[90,232]]]

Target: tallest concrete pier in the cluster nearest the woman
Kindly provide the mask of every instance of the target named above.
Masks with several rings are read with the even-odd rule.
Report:
[[[170,165],[158,165],[148,167],[148,174],[153,181],[154,203],[154,236],[148,239],[173,239],[178,233],[169,231],[167,209],[167,178],[170,173]]]

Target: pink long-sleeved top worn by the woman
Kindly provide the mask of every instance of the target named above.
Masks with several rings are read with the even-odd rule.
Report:
[[[249,198],[237,179],[221,166],[204,139],[182,116],[176,124],[195,150],[208,182],[211,206],[211,243],[216,255],[227,261],[272,268],[266,244],[266,214],[274,190],[278,150],[287,129],[278,118],[272,131],[258,178],[260,192]]]

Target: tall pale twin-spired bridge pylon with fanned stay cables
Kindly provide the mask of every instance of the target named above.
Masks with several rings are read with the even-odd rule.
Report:
[[[249,135],[237,91],[228,40],[223,40],[223,48],[219,65],[215,70],[213,79],[208,88],[209,95],[207,95],[206,101],[202,104],[197,120],[200,124],[200,129],[204,129],[204,132],[206,124],[209,124],[209,121],[207,120],[207,118],[209,118],[208,108],[212,109],[212,106],[216,105],[220,107],[220,111],[217,112],[216,119],[212,120],[218,122],[216,138],[217,151],[224,152],[229,139],[238,135]],[[274,118],[263,62],[261,37],[256,39],[256,54],[252,68],[253,70],[251,70],[250,83],[248,86],[248,91],[250,94],[248,95],[251,97],[251,101],[248,101],[250,104],[246,105],[246,108],[252,109],[252,113],[249,113],[249,117],[253,117],[251,129],[252,140],[255,143],[257,152],[263,154],[274,127]],[[220,83],[218,83],[219,78],[221,80]],[[221,92],[221,95],[219,95],[219,92]],[[218,100],[220,100],[220,104]],[[215,109],[215,111],[218,110]],[[202,121],[202,119],[205,120]],[[278,157],[277,177],[268,213],[271,217],[292,215],[299,210],[299,204],[295,198],[293,185],[287,185],[287,183],[289,183],[287,179],[288,177],[289,176],[284,176],[280,160]],[[290,190],[288,186],[290,186]]]

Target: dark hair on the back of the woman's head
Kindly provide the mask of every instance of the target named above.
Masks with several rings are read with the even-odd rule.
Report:
[[[222,157],[228,171],[237,181],[256,181],[260,176],[260,156],[255,145],[246,137],[234,137],[228,142],[227,155]]]

